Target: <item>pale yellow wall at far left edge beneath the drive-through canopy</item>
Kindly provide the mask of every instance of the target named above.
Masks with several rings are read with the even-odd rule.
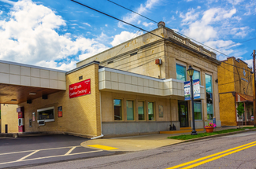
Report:
[[[19,128],[17,107],[17,105],[1,104],[2,133],[6,132],[6,124],[8,125],[8,133],[18,132]]]

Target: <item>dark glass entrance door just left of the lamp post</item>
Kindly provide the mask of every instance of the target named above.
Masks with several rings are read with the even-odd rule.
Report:
[[[178,101],[180,127],[188,127],[187,101]]]

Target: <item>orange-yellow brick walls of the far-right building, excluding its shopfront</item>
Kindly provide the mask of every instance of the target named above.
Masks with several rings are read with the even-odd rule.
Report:
[[[243,75],[243,68],[246,75]],[[222,125],[236,126],[235,97],[233,97],[231,92],[253,96],[253,76],[250,72],[251,69],[248,68],[248,65],[243,61],[236,61],[235,57],[228,57],[226,61],[221,63],[221,66],[218,66],[220,117]],[[242,78],[247,79],[248,82]]]

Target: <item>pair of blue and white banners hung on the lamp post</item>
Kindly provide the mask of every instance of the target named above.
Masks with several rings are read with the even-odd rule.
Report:
[[[200,98],[200,81],[199,79],[193,80],[194,99]],[[184,82],[184,97],[185,101],[191,100],[190,81]]]

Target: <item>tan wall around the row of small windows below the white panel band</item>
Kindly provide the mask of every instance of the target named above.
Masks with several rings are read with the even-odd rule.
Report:
[[[142,96],[142,95],[135,95],[135,94],[121,94],[121,93],[114,93],[114,92],[108,92],[108,91],[101,91],[101,104],[102,104],[102,122],[114,122],[114,114],[113,114],[113,99],[121,99],[122,100],[122,112],[124,116],[124,122],[125,121],[131,121],[126,120],[126,100],[134,101],[134,108],[135,108],[135,121],[139,121],[138,116],[138,104],[137,101],[144,101],[144,108],[145,113],[147,115],[147,102],[154,102],[154,117],[156,118],[156,121],[170,121],[170,105],[169,105],[169,99],[166,98],[160,98],[160,97],[150,97],[150,96]],[[162,105],[164,107],[164,116],[163,118],[159,118],[158,116],[158,106]],[[177,107],[178,105],[172,105],[172,108]],[[177,114],[173,112],[173,114]],[[176,116],[177,117],[177,116]],[[176,119],[173,117],[173,121],[178,121],[179,119]],[[148,119],[146,118],[146,121]],[[116,121],[117,122],[117,121]],[[118,121],[120,122],[120,121]]]

